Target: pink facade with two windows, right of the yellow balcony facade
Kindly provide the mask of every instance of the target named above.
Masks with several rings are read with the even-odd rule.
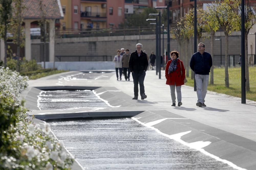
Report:
[[[113,15],[109,15],[109,7],[113,7]],[[122,7],[121,16],[118,16],[118,8]],[[107,28],[110,23],[114,23],[113,28],[118,28],[118,24],[124,19],[124,0],[108,0],[107,1]]]

